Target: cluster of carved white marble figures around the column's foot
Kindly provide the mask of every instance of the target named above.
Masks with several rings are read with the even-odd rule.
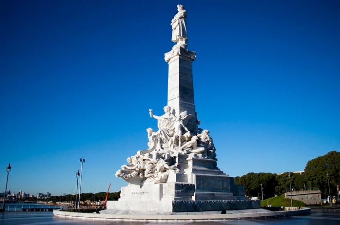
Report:
[[[209,131],[199,129],[200,132],[195,133],[186,127],[192,114],[185,111],[176,117],[170,106],[164,107],[164,115],[156,116],[151,109],[149,114],[157,119],[158,127],[156,132],[152,128],[146,129],[149,149],[127,158],[128,164],[116,172],[117,177],[137,185],[164,183],[170,172],[179,172],[178,154],[217,160]]]

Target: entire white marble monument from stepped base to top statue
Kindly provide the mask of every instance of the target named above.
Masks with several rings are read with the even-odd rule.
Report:
[[[182,5],[171,20],[171,40],[165,53],[169,65],[168,100],[157,116],[157,131],[146,129],[148,149],[127,158],[116,172],[129,183],[118,201],[107,201],[108,210],[129,212],[195,212],[259,208],[246,199],[244,187],[217,167],[216,148],[208,130],[199,128],[194,103],[192,62],[188,50],[187,12]]]

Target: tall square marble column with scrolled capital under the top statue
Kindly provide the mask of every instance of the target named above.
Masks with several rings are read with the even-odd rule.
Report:
[[[196,52],[189,51],[179,44],[165,53],[165,61],[169,64],[168,106],[175,111],[176,116],[184,111],[193,114],[187,128],[194,133],[197,132],[199,123],[195,111],[192,71],[192,62],[195,58]]]

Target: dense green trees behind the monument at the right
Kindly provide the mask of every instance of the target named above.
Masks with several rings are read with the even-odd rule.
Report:
[[[328,180],[331,195],[339,197],[340,189],[340,152],[330,151],[327,154],[308,161],[304,173],[290,173],[293,190],[319,189],[322,197],[328,196]],[[289,172],[276,173],[247,173],[235,177],[235,184],[245,187],[247,195],[261,197],[263,185],[263,198],[282,195],[289,191]]]

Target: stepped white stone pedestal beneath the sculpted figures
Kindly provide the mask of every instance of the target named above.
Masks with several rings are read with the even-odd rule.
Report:
[[[107,209],[189,212],[260,207],[258,201],[245,199],[244,188],[234,185],[233,178],[218,169],[215,160],[184,154],[176,158],[180,173],[170,173],[166,183],[122,187],[121,198],[107,201]]]

